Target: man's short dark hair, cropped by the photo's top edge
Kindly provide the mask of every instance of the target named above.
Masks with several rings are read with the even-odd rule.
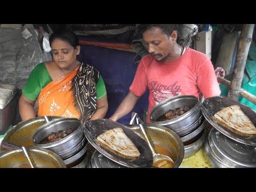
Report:
[[[179,24],[138,24],[136,26],[137,33],[144,33],[146,30],[153,28],[153,27],[159,27],[162,29],[162,31],[170,36],[172,31],[177,30],[179,34]]]

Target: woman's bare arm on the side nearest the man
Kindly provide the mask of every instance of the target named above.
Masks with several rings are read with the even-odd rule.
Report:
[[[108,99],[107,94],[100,99],[97,99],[97,109],[92,115],[90,120],[104,118],[108,111]]]

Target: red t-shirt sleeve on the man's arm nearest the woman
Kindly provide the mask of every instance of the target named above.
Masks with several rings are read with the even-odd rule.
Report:
[[[143,62],[143,59],[141,59],[137,67],[133,82],[130,86],[130,91],[138,97],[141,97],[141,95],[143,95],[147,90],[147,79],[145,70],[145,62]]]

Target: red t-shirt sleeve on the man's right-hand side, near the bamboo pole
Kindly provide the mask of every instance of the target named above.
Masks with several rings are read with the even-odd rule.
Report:
[[[210,59],[207,59],[201,67],[198,68],[197,86],[203,94],[203,97],[209,98],[220,95],[220,87],[217,76]]]

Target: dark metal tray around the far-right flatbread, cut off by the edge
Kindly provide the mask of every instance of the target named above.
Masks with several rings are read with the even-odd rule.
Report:
[[[222,134],[226,135],[230,139],[233,139],[239,143],[243,143],[245,145],[250,145],[250,146],[256,146],[256,137],[252,137],[252,138],[243,137],[241,135],[238,135],[230,131],[225,126],[222,126],[213,121],[212,117],[215,113],[231,105],[238,105],[239,107],[241,107],[244,114],[252,121],[253,125],[256,126],[256,113],[251,108],[243,105],[242,103],[238,101],[234,101],[227,97],[218,96],[218,97],[207,98],[202,103],[201,108],[202,108],[202,113],[204,117],[219,132],[221,132]]]

